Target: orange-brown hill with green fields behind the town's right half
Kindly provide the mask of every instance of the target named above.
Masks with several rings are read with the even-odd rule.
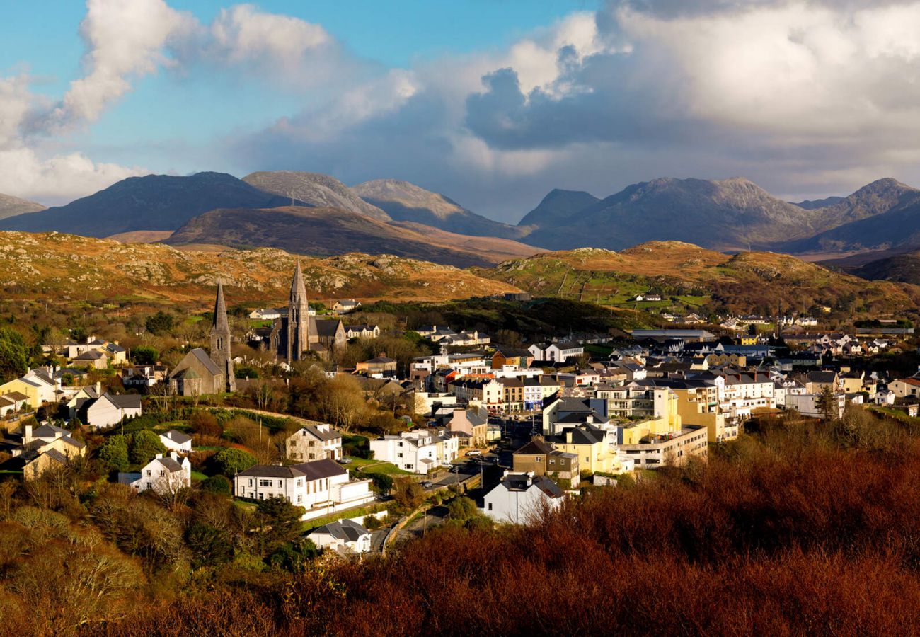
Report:
[[[806,311],[834,307],[841,298],[873,312],[914,310],[920,291],[913,286],[866,282],[819,265],[772,252],[727,255],[680,242],[650,242],[621,252],[574,249],[506,261],[485,277],[535,295],[656,309],[725,307],[730,311]],[[658,292],[676,301],[629,303],[637,294]]]

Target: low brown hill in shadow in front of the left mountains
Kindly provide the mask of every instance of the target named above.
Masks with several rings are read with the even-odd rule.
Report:
[[[336,208],[288,206],[270,210],[213,210],[190,220],[166,242],[173,246],[188,243],[219,243],[235,248],[265,246],[316,255],[387,252],[458,267],[489,265],[501,260],[500,254],[489,255],[479,241],[465,247],[459,240],[461,237],[445,235],[427,228],[416,231],[386,224]],[[532,252],[533,249],[523,247],[523,254]]]

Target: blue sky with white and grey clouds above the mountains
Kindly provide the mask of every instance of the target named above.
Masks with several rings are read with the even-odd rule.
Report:
[[[516,223],[554,188],[920,186],[920,1],[3,3],[0,192],[393,178]]]

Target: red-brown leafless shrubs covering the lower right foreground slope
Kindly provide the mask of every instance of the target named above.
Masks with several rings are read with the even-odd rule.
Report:
[[[799,440],[793,453],[793,438],[765,434],[707,467],[594,490],[526,527],[442,527],[385,559],[154,604],[103,632],[920,630],[914,439],[883,450]]]

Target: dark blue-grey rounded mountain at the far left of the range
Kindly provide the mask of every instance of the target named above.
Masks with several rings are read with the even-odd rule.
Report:
[[[175,230],[214,208],[265,208],[285,203],[291,200],[259,191],[224,173],[147,175],[121,180],[63,206],[9,217],[0,221],[0,230],[53,230],[109,237],[135,230]]]

